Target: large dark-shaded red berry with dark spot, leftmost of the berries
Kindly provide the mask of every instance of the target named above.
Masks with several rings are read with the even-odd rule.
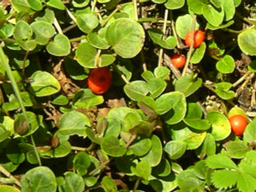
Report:
[[[94,94],[104,94],[111,86],[112,74],[107,67],[95,68],[90,71],[87,84]]]

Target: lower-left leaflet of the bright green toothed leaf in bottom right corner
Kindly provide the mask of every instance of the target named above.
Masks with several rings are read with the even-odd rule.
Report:
[[[236,170],[215,170],[211,179],[218,188],[231,188],[238,181],[238,176]]]

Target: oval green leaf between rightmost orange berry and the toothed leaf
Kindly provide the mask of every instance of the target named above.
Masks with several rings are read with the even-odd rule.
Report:
[[[244,158],[248,147],[241,140],[231,141],[226,145],[226,153],[230,158]]]

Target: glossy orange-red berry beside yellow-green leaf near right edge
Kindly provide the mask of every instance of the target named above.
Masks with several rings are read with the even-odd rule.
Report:
[[[235,135],[241,136],[246,129],[247,120],[242,114],[234,114],[229,118],[231,130]]]

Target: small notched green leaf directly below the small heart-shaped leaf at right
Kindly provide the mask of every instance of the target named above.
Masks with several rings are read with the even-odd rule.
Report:
[[[215,84],[216,93],[222,99],[228,100],[234,98],[234,91],[230,90],[232,84],[230,82],[218,82]]]

